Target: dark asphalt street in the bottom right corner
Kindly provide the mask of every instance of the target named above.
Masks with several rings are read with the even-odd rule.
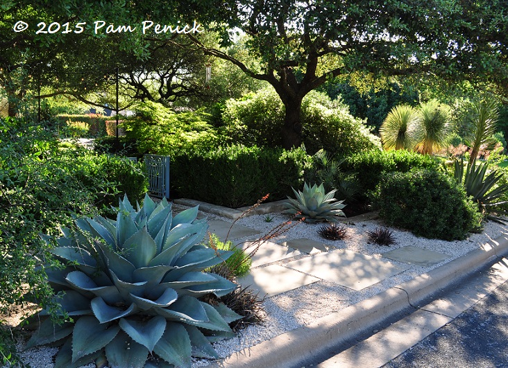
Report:
[[[508,283],[383,366],[508,367]]]

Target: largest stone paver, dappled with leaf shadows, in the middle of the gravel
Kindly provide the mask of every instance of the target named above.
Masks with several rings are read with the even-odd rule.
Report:
[[[408,268],[345,249],[291,261],[286,267],[353,290],[362,290]]]

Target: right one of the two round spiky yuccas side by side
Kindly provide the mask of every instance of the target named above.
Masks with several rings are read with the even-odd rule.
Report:
[[[434,150],[446,146],[452,133],[450,119],[450,109],[440,105],[437,100],[421,104],[418,109],[416,150],[432,155]]]

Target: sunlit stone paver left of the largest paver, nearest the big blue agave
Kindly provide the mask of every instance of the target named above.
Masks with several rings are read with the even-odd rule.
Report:
[[[319,281],[316,277],[290,270],[280,265],[268,265],[255,268],[246,277],[238,280],[242,287],[249,286],[252,290],[260,292],[260,297],[272,297],[300,286],[309,285]]]

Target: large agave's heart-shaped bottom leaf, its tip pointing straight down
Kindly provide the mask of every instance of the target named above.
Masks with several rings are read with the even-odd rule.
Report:
[[[144,322],[121,318],[119,325],[131,339],[152,352],[153,347],[164,334],[166,319],[162,315],[156,315]]]

